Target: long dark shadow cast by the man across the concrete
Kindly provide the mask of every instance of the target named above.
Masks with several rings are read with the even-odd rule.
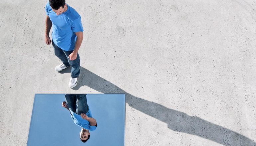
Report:
[[[80,67],[80,70],[79,82],[73,90],[88,86],[101,93],[125,93],[126,103],[130,107],[167,123],[171,130],[200,136],[226,146],[256,146],[255,141],[235,131],[199,117],[189,116],[184,112],[168,109],[160,104],[135,97],[83,67]]]

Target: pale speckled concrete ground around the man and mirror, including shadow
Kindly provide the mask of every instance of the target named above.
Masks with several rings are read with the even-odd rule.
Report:
[[[1,146],[26,146],[35,93],[126,93],[126,146],[256,146],[255,1],[67,0],[84,28],[74,89],[44,41],[47,0],[0,2]]]

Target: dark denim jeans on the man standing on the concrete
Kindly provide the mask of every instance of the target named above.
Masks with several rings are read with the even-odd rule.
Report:
[[[62,63],[65,66],[71,66],[71,77],[72,78],[78,78],[80,74],[80,57],[79,54],[77,53],[77,57],[75,60],[69,60],[68,56],[73,52],[73,51],[65,51],[58,47],[53,41],[53,47],[54,47],[54,54],[61,59]]]

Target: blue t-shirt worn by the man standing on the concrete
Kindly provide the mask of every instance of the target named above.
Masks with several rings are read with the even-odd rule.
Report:
[[[46,14],[53,23],[53,42],[65,51],[72,51],[75,47],[75,32],[83,32],[80,15],[70,6],[61,15],[57,15],[49,2],[45,6]]]

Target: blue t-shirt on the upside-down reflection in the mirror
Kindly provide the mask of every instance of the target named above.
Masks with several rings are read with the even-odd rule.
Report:
[[[84,129],[91,130],[91,131],[93,131],[97,128],[97,124],[95,126],[91,126],[89,121],[87,121],[86,119],[83,119],[79,114],[76,114],[71,109],[69,109],[69,110],[70,110],[71,118],[76,125],[84,128]],[[92,117],[90,109],[88,110],[86,115],[88,117]]]

